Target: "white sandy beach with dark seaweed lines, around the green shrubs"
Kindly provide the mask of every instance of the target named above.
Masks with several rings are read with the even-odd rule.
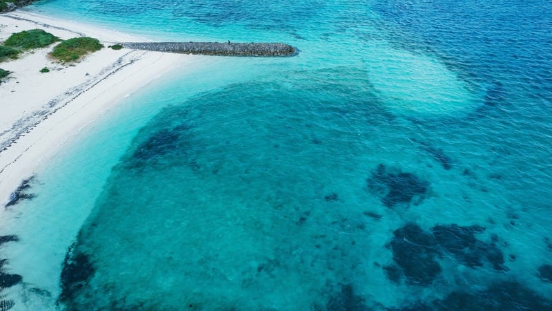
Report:
[[[41,28],[61,39],[86,35],[104,46],[144,41],[92,26],[29,12],[0,15],[0,41],[13,32]],[[70,66],[48,59],[52,46],[0,63],[12,71],[0,84],[0,204],[21,180],[90,122],[153,79],[177,66],[192,64],[190,55],[103,48]],[[39,73],[43,67],[50,73]],[[1,216],[0,216],[1,218]]]

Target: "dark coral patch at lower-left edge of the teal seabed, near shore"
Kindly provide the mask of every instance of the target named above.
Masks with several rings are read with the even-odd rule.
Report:
[[[68,250],[63,269],[61,270],[61,294],[60,301],[68,301],[77,296],[78,292],[86,286],[88,279],[94,274],[95,269],[86,254],[75,253],[75,245]]]

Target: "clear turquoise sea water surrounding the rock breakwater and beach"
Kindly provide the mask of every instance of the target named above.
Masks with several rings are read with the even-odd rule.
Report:
[[[12,308],[552,310],[552,3],[50,0],[197,57],[10,207]],[[5,275],[6,275],[5,273]]]

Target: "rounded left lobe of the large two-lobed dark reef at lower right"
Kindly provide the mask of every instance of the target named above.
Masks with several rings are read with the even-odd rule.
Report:
[[[436,261],[439,249],[435,237],[415,223],[408,223],[393,234],[390,243],[393,261],[402,268],[406,282],[412,285],[431,284],[441,273],[441,266]]]

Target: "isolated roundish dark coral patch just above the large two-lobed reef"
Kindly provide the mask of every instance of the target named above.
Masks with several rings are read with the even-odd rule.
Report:
[[[380,164],[372,171],[372,176],[366,180],[368,189],[380,196],[386,207],[397,204],[409,205],[415,198],[419,204],[426,194],[429,182],[422,180],[413,173],[404,173],[397,169],[388,169]]]

